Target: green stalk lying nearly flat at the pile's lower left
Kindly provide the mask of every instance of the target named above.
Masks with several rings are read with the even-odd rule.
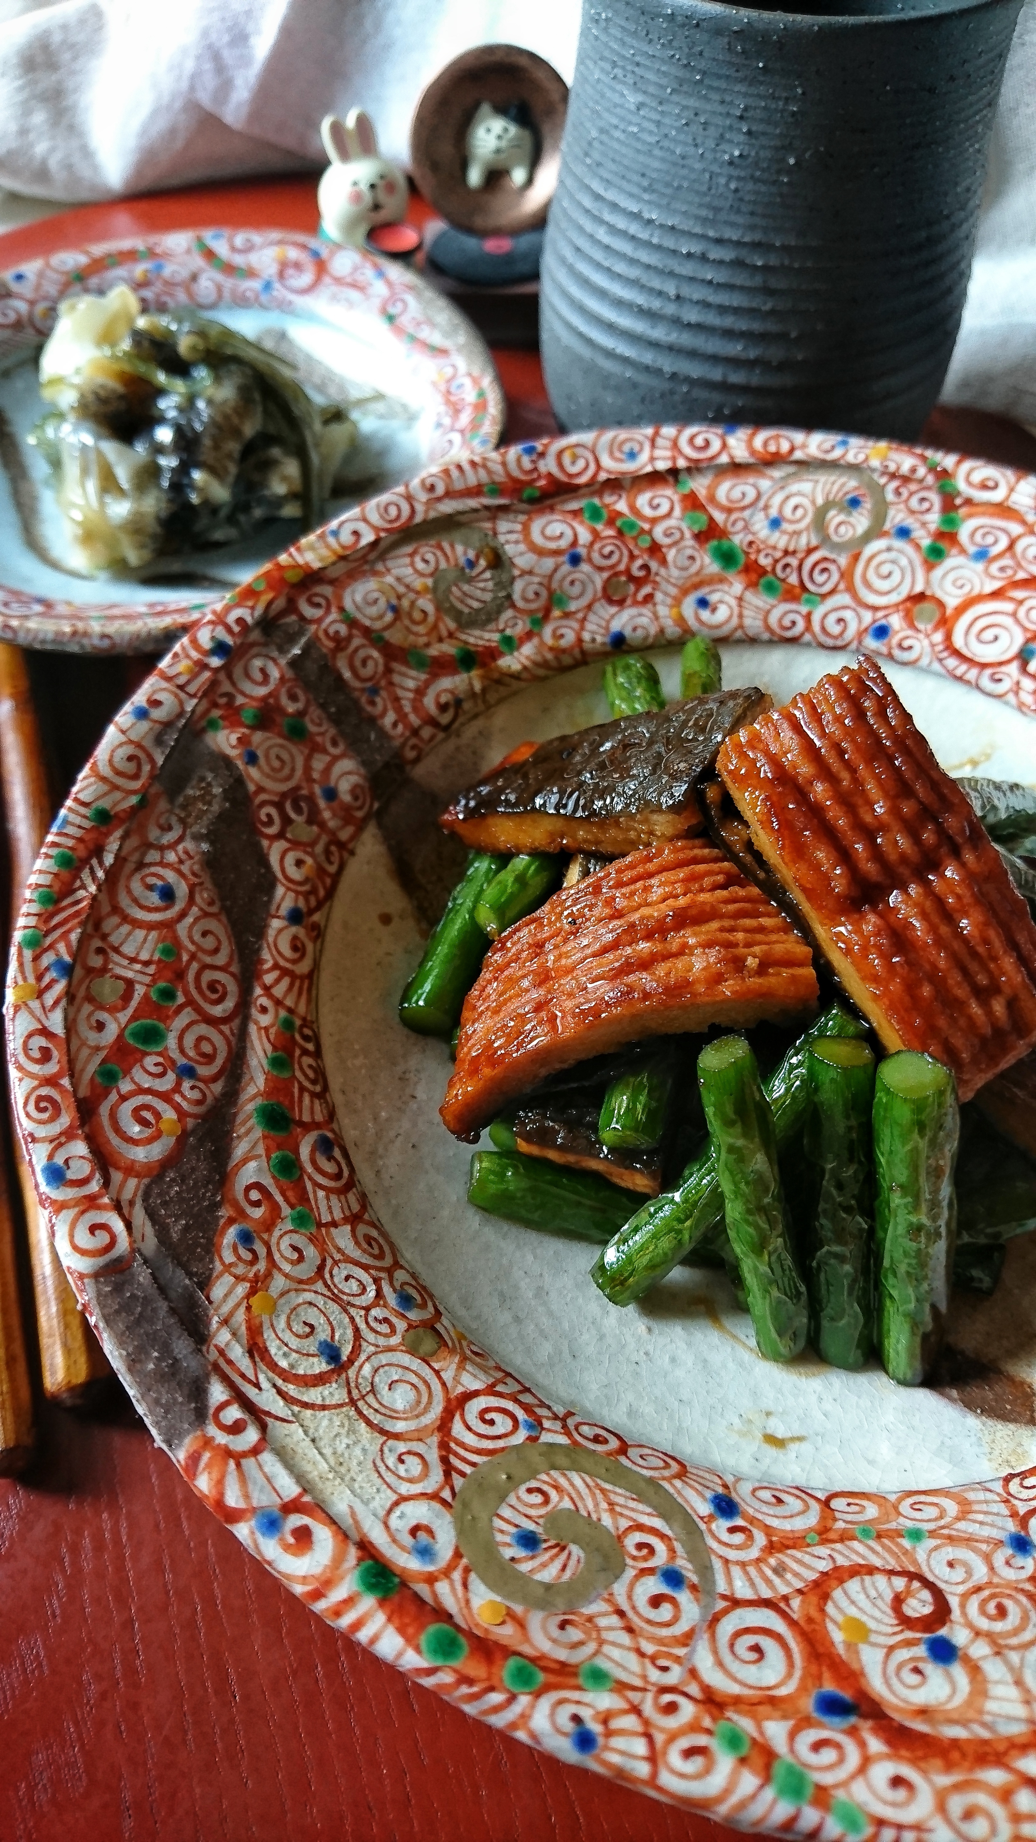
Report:
[[[606,1242],[632,1208],[632,1197],[601,1177],[503,1151],[474,1153],[468,1203],[527,1229],[597,1243]]]

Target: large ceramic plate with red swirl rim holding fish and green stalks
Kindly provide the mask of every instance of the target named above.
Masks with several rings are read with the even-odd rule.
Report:
[[[747,1829],[1030,1835],[1036,1258],[929,1389],[763,1365],[465,1203],[398,1026],[435,812],[702,630],[774,696],[876,654],[942,763],[1036,779],[1036,481],[710,427],[457,457],[206,610],[37,864],[7,984],[61,1260],[214,1514],[507,1733]]]

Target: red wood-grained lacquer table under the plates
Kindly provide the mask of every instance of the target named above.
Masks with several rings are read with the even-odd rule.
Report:
[[[87,238],[199,223],[315,228],[312,181],[88,206],[0,236],[0,271]],[[538,359],[494,352],[507,437],[555,424]],[[999,418],[929,438],[1021,466]],[[37,656],[66,785],[146,661]],[[0,1481],[0,1842],[675,1842],[730,1835],[468,1720],[284,1593],[192,1496],[124,1400],[39,1411]]]

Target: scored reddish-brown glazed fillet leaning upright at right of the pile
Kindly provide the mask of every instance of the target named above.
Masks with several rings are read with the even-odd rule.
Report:
[[[728,737],[752,842],[887,1050],[960,1100],[1036,1043],[1036,927],[968,798],[872,659]]]

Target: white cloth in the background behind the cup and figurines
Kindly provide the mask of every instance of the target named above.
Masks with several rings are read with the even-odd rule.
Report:
[[[359,103],[407,158],[424,85],[505,41],[571,81],[579,0],[0,0],[0,186],[83,201],[321,166],[319,122]],[[1036,0],[994,133],[944,400],[1036,424]],[[933,160],[938,146],[933,146]],[[953,175],[948,175],[953,184]],[[41,206],[42,212],[44,206]],[[0,203],[0,221],[24,204]]]

